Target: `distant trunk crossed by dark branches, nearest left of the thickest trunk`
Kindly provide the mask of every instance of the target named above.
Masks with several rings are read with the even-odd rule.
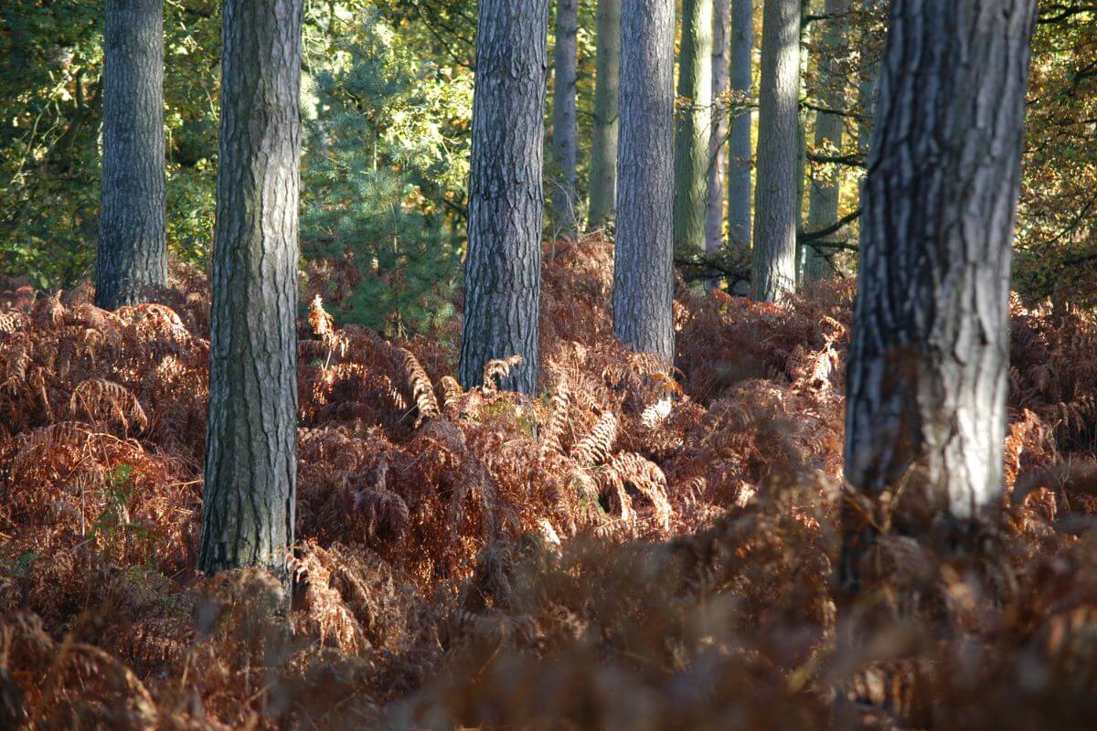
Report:
[[[846,107],[846,77],[835,62],[846,45],[846,25],[849,0],[826,0],[824,13],[828,16],[823,30],[821,53],[817,61],[817,94],[823,106],[832,110]],[[815,151],[834,155],[841,150],[845,121],[838,114],[817,112],[815,114]],[[838,167],[813,168],[807,206],[807,229],[817,231],[838,220],[839,179]],[[817,281],[833,274],[830,262],[817,250],[807,247],[804,252],[804,278]]]

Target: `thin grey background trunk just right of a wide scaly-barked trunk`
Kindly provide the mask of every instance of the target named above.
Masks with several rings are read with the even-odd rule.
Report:
[[[556,225],[565,236],[575,236],[578,197],[576,194],[575,81],[576,36],[579,32],[578,0],[556,2],[556,47],[553,52],[552,150],[559,179],[552,184]]]

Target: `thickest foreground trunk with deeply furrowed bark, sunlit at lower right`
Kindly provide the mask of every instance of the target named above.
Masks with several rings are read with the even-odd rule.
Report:
[[[864,185],[846,477],[1002,494],[1009,262],[1033,0],[893,0]]]

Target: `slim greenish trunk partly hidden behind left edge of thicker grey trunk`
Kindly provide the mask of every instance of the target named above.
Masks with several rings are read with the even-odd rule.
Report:
[[[613,219],[617,205],[618,94],[621,79],[621,0],[598,0],[595,132],[590,145],[587,228]]]

